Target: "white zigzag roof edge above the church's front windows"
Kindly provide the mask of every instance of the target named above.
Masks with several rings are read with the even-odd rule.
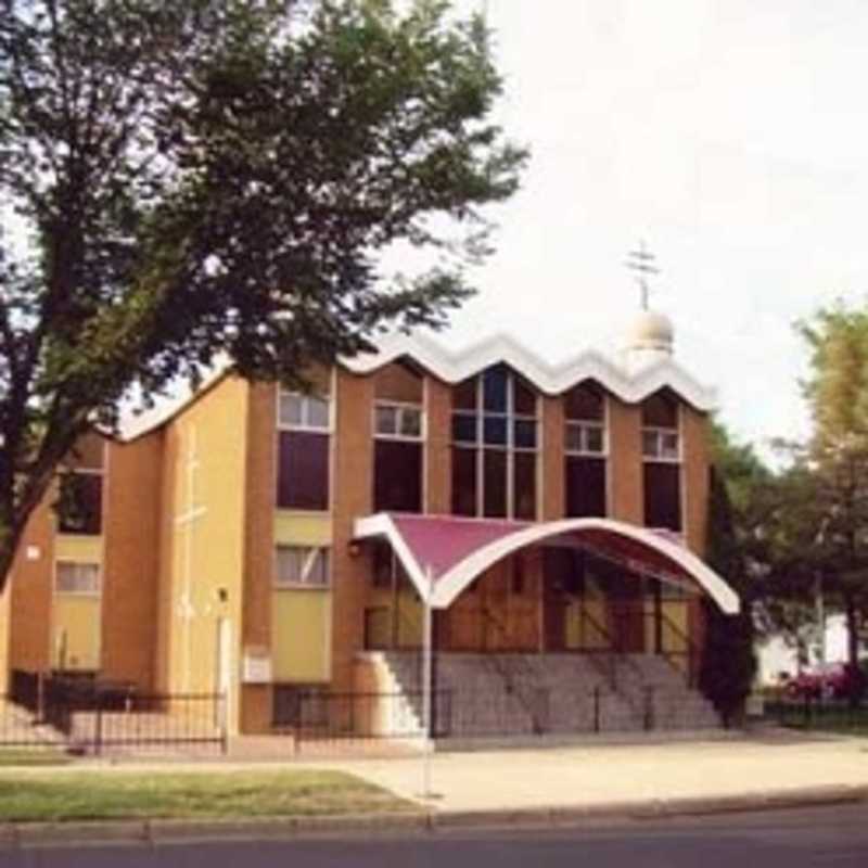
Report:
[[[400,358],[410,358],[447,383],[459,383],[498,362],[506,362],[547,395],[559,395],[583,380],[596,380],[621,400],[637,404],[668,386],[698,410],[717,406],[716,390],[704,386],[672,358],[664,358],[636,373],[629,373],[596,349],[552,365],[507,334],[494,334],[471,346],[452,352],[423,335],[394,335],[381,342],[376,353],[342,359],[359,374],[373,373]]]

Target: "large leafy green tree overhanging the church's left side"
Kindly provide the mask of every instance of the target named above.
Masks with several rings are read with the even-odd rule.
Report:
[[[131,390],[441,324],[525,159],[500,91],[442,0],[0,0],[0,582]]]

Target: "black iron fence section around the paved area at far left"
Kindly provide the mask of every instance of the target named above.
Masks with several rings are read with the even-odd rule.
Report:
[[[14,672],[0,706],[0,748],[49,744],[75,753],[203,749],[226,752],[226,697],[143,693],[94,678]]]

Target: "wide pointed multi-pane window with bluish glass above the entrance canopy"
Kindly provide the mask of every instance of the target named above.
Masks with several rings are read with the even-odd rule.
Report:
[[[537,394],[506,365],[452,390],[452,512],[536,519]]]

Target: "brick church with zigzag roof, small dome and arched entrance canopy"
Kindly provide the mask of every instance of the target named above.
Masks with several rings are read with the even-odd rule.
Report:
[[[459,692],[488,684],[459,661],[575,685],[618,654],[694,690],[705,607],[739,600],[702,560],[715,395],[665,317],[613,358],[398,336],[308,379],[226,368],[86,437],[13,564],[0,677],[221,693],[230,733],[280,732],[303,698],[418,686],[429,600]]]

